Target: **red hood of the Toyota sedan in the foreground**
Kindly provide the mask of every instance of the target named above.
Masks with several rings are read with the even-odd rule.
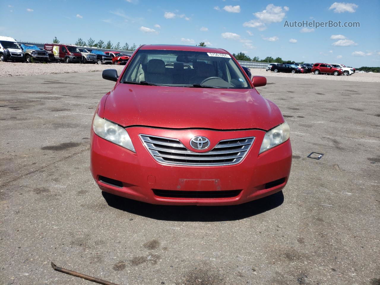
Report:
[[[279,108],[255,89],[117,84],[100,116],[124,127],[269,130],[284,122]]]

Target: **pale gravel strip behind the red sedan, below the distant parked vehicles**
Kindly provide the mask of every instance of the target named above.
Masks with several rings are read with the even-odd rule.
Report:
[[[114,68],[119,72],[123,70],[123,65],[97,65],[97,64],[79,64],[79,63],[20,63],[20,62],[0,62],[0,74],[2,76],[25,76],[25,75],[43,75],[58,73],[83,73],[90,71],[102,71],[107,68]],[[380,82],[379,73],[354,73],[350,76],[332,76],[313,73],[292,74],[292,73],[274,73],[262,68],[251,70],[252,75],[275,76],[286,78],[304,78],[304,79],[327,79],[338,81],[357,81],[357,82]]]

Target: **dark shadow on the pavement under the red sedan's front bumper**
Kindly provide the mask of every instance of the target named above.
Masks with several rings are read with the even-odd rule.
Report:
[[[233,206],[165,206],[135,201],[102,192],[107,204],[131,214],[155,220],[178,222],[223,222],[252,217],[280,206],[282,191],[270,196]]]

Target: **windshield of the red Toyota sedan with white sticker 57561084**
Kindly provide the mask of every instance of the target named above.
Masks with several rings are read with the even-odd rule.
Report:
[[[251,88],[229,54],[139,50],[122,78],[124,83],[177,87]]]

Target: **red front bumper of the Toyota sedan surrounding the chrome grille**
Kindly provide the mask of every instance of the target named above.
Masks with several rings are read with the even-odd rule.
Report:
[[[90,169],[98,186],[105,192],[152,204],[232,205],[279,192],[288,181],[292,154],[290,140],[259,155],[265,134],[261,130],[223,132],[130,127],[127,131],[136,153],[100,138],[91,130]],[[139,134],[170,138],[202,135],[211,141],[255,136],[255,141],[244,160],[236,165],[178,166],[157,162],[142,144]],[[105,181],[103,177],[117,180],[122,185],[118,187],[102,182]],[[277,184],[269,183],[276,180]],[[236,195],[221,198],[187,195],[198,191],[236,191]],[[165,192],[179,193],[180,197],[161,194]]]

